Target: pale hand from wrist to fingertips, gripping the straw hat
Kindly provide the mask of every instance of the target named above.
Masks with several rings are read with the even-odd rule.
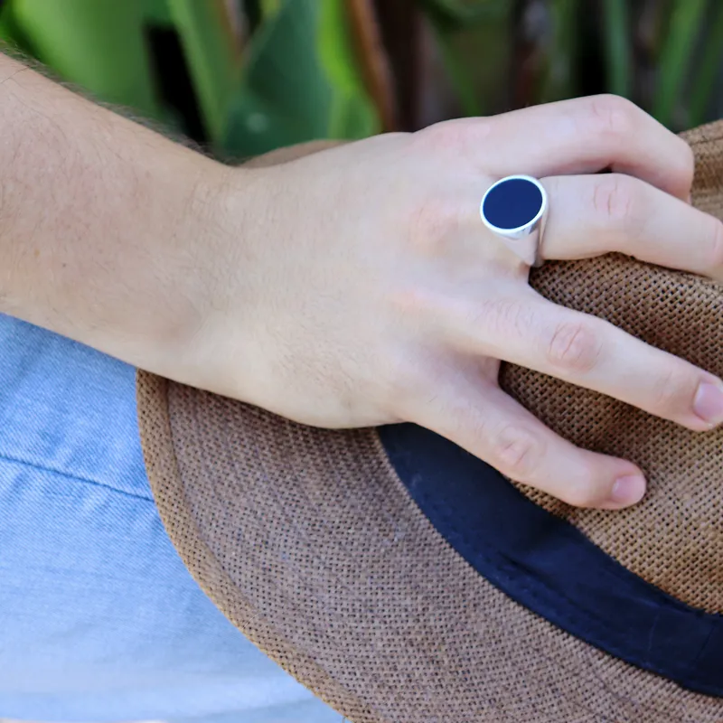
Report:
[[[544,427],[498,387],[500,360],[701,431],[723,385],[534,292],[479,217],[507,174],[549,192],[543,258],[723,278],[690,148],[623,99],[565,101],[231,172],[216,238],[236,240],[205,250],[202,324],[167,375],[310,425],[416,422],[575,505],[639,501],[640,470]]]

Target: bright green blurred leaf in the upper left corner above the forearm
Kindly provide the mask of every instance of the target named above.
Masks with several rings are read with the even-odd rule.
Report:
[[[161,118],[146,51],[145,0],[13,0],[40,61],[109,103]]]

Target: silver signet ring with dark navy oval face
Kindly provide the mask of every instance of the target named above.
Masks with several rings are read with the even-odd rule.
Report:
[[[528,266],[540,266],[548,194],[536,178],[508,175],[493,183],[480,203],[484,225]]]

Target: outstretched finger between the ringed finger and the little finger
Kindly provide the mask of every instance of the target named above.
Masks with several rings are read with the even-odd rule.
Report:
[[[457,330],[465,351],[599,391],[693,430],[723,422],[723,382],[707,371],[531,288],[521,293],[519,284],[498,282],[490,292]]]

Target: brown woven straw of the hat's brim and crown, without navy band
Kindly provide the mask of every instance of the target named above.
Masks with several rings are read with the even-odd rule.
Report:
[[[721,131],[692,136],[701,159],[712,154],[705,168],[718,164],[716,141],[707,138]],[[707,173],[696,200],[716,209],[719,169]],[[572,286],[598,275],[606,279],[596,282],[599,294],[610,299],[599,308],[596,295],[580,299]],[[601,315],[617,310],[614,320],[626,328],[668,330],[651,341],[680,343],[685,356],[723,371],[715,286],[622,258],[549,265],[533,283],[548,296],[570,285],[569,305]],[[635,303],[621,305],[621,294]],[[654,317],[647,324],[645,308]],[[634,459],[653,474],[640,511],[615,518],[539,501],[643,577],[657,575],[667,589],[716,608],[717,567],[709,559],[719,562],[721,547],[720,467],[706,455],[719,454],[710,441],[716,437],[719,446],[718,435],[686,436],[521,370],[508,368],[504,380],[568,437],[616,454],[628,449],[636,425],[647,441],[634,448]],[[581,643],[479,576],[410,500],[373,430],[303,427],[143,371],[137,392],[155,499],[192,575],[233,624],[353,723],[723,720],[723,700],[681,690]],[[677,502],[666,506],[670,490]],[[701,569],[684,569],[694,564]]]

